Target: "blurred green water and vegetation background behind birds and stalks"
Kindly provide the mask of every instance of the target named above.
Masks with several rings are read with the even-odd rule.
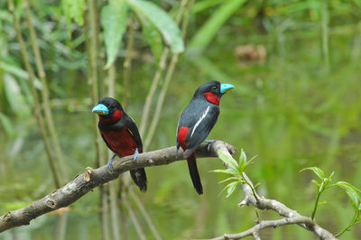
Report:
[[[92,87],[88,82],[89,2],[74,1],[80,6],[72,5],[75,8],[69,16],[64,14],[67,1],[30,1],[69,179],[88,166],[96,167]],[[179,1],[152,2],[173,18],[180,8]],[[318,166],[327,175],[335,171],[334,180],[346,180],[361,188],[361,1],[199,0],[192,6],[185,2],[185,12],[190,9],[185,51],[180,53],[148,150],[174,145],[178,118],[196,88],[208,80],[220,80],[236,88],[222,97],[221,114],[208,139],[243,148],[249,158],[256,155],[246,173],[261,183],[257,188],[260,195],[310,216],[316,187],[310,172],[299,172],[310,166]],[[96,3],[99,16],[108,3]],[[23,1],[15,1],[15,14],[35,69],[22,5]],[[127,113],[140,125],[157,56],[144,37],[137,14],[133,18],[134,56],[128,88],[124,88],[123,64],[130,19],[123,44],[116,51],[115,67],[116,98],[122,101],[129,93]],[[99,25],[100,20],[96,23]],[[107,88],[103,68],[106,35],[103,27],[98,28],[99,86]],[[32,114],[31,88],[6,1],[0,3],[0,46],[0,215],[4,215],[42,198],[55,186]],[[161,78],[151,114],[163,84]],[[105,151],[106,145],[101,143],[101,148]],[[148,191],[143,194],[134,188],[162,238],[209,238],[254,226],[255,208],[236,206],[244,197],[240,188],[230,198],[219,194],[224,185],[218,181],[225,176],[209,171],[221,168],[220,162],[201,159],[198,165],[202,196],[192,187],[186,162],[147,168]],[[126,197],[127,191],[123,194]],[[133,209],[145,237],[153,239],[131,199],[131,208],[119,203],[125,216],[120,225],[127,230],[121,231],[122,237],[140,237],[129,217]],[[320,201],[326,202],[316,214],[320,226],[336,234],[351,221],[353,208],[341,189],[329,189]],[[65,239],[100,239],[98,207],[98,189],[71,205]],[[278,218],[271,211],[258,212],[262,219]],[[0,239],[56,239],[58,221],[58,215],[47,214],[30,226],[6,231]],[[359,239],[359,235],[361,227],[355,226],[340,238]],[[315,238],[300,226],[266,229],[260,236]]]

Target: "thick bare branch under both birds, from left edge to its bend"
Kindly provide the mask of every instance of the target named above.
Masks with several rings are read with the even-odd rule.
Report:
[[[218,157],[218,150],[233,154],[236,152],[236,147],[222,141],[216,141],[209,145],[209,151],[208,143],[201,144],[196,153],[198,158]],[[36,217],[69,206],[87,194],[88,191],[109,180],[115,180],[119,174],[125,171],[164,165],[180,160],[184,160],[182,151],[178,152],[177,159],[176,147],[172,146],[153,152],[141,153],[138,155],[136,162],[133,161],[133,156],[123,157],[113,162],[113,171],[110,171],[106,165],[98,169],[88,167],[84,173],[77,175],[60,189],[52,191],[44,198],[38,199],[24,208],[9,211],[0,217],[0,233],[15,226],[29,225],[30,221]]]

